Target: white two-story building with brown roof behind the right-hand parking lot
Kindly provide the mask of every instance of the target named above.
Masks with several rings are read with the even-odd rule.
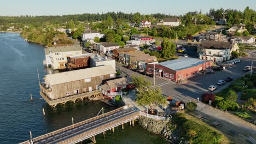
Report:
[[[203,40],[197,47],[200,59],[212,60],[216,63],[228,61],[232,51],[238,51],[237,44],[232,44],[223,41]]]

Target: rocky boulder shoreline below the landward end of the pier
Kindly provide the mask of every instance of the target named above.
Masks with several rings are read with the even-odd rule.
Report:
[[[166,121],[157,121],[152,118],[140,116],[137,122],[143,129],[146,129],[154,134],[161,135],[171,143],[189,143],[189,141],[186,141],[184,137],[179,135],[179,130],[173,123],[172,116],[170,114],[167,115]]]

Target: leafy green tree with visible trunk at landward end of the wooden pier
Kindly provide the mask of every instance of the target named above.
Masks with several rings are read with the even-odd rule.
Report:
[[[155,106],[166,104],[166,98],[163,97],[160,88],[156,88],[155,90],[148,89],[147,91],[144,91],[143,89],[139,89],[136,102],[139,105],[149,105],[150,111],[154,113]]]

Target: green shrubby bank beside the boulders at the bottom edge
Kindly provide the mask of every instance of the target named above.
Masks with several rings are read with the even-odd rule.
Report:
[[[178,126],[184,130],[185,136],[190,143],[220,143],[224,137],[223,134],[219,134],[205,125],[186,119],[184,115],[179,113],[174,115],[174,122],[178,123]]]

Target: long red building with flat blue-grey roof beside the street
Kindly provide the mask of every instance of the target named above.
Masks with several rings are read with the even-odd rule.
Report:
[[[155,64],[155,75],[178,82],[193,76],[196,72],[211,67],[212,61],[196,58],[179,58]],[[154,64],[147,64],[147,73],[153,73]],[[159,72],[161,71],[161,72]]]

